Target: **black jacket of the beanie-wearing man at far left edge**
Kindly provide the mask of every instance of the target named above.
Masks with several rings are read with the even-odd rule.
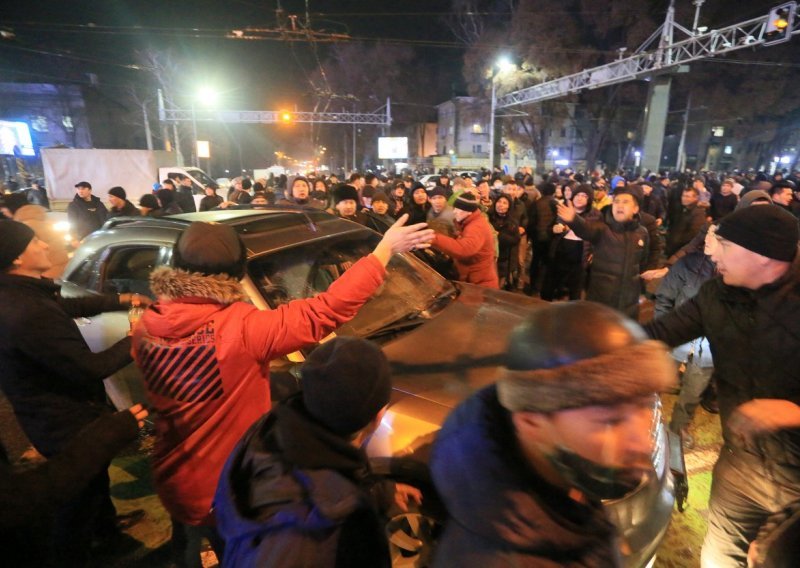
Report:
[[[122,310],[116,296],[62,298],[52,280],[0,274],[0,388],[49,457],[108,412],[103,379],[132,361],[130,339],[93,353],[72,318]]]

